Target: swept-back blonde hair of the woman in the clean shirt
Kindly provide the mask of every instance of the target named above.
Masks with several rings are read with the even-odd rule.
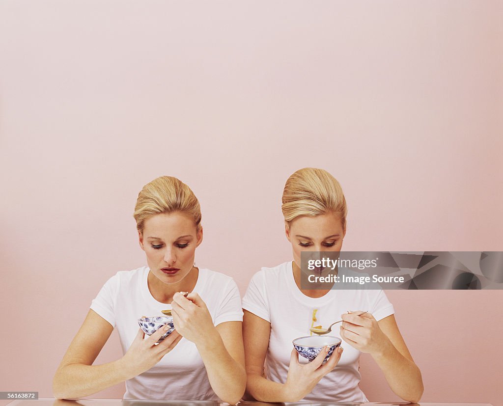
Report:
[[[194,192],[173,176],[161,176],[143,186],[138,193],[133,217],[136,228],[143,233],[146,219],[156,214],[180,212],[189,215],[201,228],[201,207]]]

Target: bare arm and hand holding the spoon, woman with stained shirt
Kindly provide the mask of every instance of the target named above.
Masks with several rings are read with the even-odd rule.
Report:
[[[417,403],[423,395],[423,378],[405,345],[394,315],[376,322],[372,315],[343,315],[341,335],[353,347],[370,353],[393,392]],[[360,320],[359,320],[360,319]]]

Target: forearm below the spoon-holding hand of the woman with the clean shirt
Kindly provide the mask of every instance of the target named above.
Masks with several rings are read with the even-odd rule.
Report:
[[[215,329],[205,337],[197,348],[216,395],[227,403],[237,403],[244,393],[246,373],[244,367],[230,356],[218,331]]]

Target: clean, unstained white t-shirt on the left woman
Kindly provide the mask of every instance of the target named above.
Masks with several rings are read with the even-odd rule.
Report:
[[[117,272],[102,287],[91,309],[117,328],[123,353],[138,333],[141,316],[161,315],[170,304],[153,298],[148,289],[149,268]],[[215,326],[242,321],[241,297],[230,276],[209,269],[199,269],[194,287],[206,303]],[[210,386],[206,368],[197,347],[182,338],[148,371],[126,381],[125,399],[217,400]]]

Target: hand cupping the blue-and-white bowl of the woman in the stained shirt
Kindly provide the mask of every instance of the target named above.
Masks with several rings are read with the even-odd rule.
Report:
[[[338,347],[333,351],[326,363],[321,365],[328,353],[328,349],[329,347],[327,346],[323,347],[316,358],[308,364],[301,364],[299,362],[299,353],[295,348],[292,350],[290,366],[285,382],[286,401],[296,402],[304,398],[313,390],[314,386],[316,386],[323,376],[336,367],[344,349]]]

